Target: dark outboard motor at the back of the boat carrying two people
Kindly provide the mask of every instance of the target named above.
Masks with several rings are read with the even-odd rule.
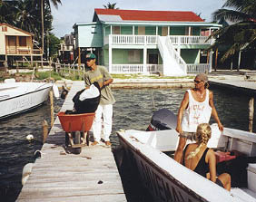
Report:
[[[177,116],[167,109],[161,109],[159,111],[154,111],[146,131],[153,130],[172,130],[175,129],[177,125]]]

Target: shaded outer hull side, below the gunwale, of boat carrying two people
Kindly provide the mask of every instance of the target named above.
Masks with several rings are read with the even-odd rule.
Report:
[[[143,156],[138,150],[127,145],[125,139],[120,138],[125,150],[125,159],[129,159],[134,172],[139,173],[143,186],[150,191],[153,201],[207,201],[195,194],[188,194],[188,189],[182,187],[175,178],[162,171],[156,165],[153,166],[151,159]]]

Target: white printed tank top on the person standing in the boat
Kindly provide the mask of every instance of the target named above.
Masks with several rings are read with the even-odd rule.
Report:
[[[183,112],[182,131],[196,132],[200,123],[208,123],[211,118],[212,107],[209,105],[209,90],[206,89],[205,100],[202,102],[195,101],[192,97],[192,91],[187,91],[189,93],[189,104]]]

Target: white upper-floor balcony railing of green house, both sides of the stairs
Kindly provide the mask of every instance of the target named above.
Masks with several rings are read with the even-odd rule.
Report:
[[[110,34],[104,37],[104,44],[157,44],[158,35],[123,35],[123,34]],[[208,36],[186,36],[186,35],[169,35],[171,43],[178,44],[212,44],[212,39]]]

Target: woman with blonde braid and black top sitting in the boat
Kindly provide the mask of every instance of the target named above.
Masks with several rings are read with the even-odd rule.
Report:
[[[183,165],[230,191],[230,174],[222,173],[218,178],[216,177],[216,157],[214,151],[207,148],[207,142],[211,137],[212,130],[208,123],[198,125],[195,134],[196,143],[188,144],[183,151]]]

